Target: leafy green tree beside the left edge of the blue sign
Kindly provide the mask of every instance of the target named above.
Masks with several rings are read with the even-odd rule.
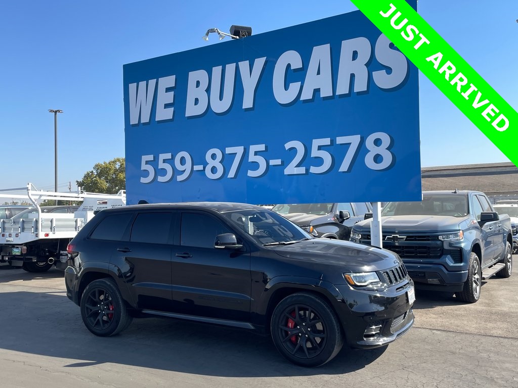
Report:
[[[84,191],[116,194],[126,188],[125,167],[124,158],[96,163],[94,169],[87,171],[76,183]]]

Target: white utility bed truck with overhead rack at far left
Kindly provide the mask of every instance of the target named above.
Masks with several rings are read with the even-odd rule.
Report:
[[[20,193],[21,191],[25,191]],[[45,272],[52,265],[66,267],[67,245],[94,217],[106,208],[125,206],[124,190],[117,194],[51,192],[27,187],[0,189],[0,199],[24,199],[34,206],[29,218],[0,220],[0,262],[21,267],[28,272]],[[82,201],[75,213],[42,213],[39,203],[44,200]]]

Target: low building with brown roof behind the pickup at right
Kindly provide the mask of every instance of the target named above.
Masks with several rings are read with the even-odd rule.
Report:
[[[426,167],[421,170],[425,190],[478,190],[490,199],[518,200],[518,168],[511,162]]]

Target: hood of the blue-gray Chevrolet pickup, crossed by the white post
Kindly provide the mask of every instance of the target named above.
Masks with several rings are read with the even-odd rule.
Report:
[[[444,232],[458,230],[468,217],[450,216],[387,216],[381,217],[381,229],[386,232]],[[372,220],[356,223],[355,230],[370,230]]]

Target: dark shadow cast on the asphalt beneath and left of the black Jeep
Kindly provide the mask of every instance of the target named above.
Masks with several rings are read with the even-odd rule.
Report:
[[[0,310],[0,325],[9,327],[0,348],[71,359],[64,361],[69,368],[116,363],[219,377],[334,375],[362,369],[386,350],[344,347],[323,367],[303,368],[285,361],[269,337],[226,327],[135,319],[117,336],[96,337],[83,325],[79,307],[63,294],[4,292]]]

